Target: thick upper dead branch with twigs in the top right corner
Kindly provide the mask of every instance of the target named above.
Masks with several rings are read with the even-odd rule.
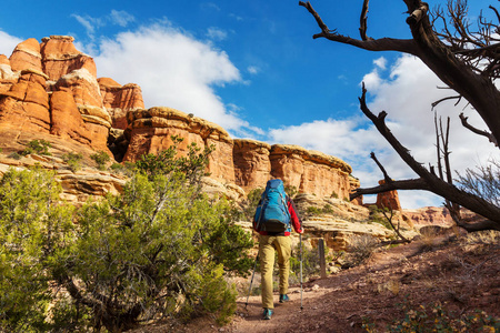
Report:
[[[367,13],[369,0],[363,0],[360,18],[361,39],[343,36],[337,29],[330,30],[311,3],[299,1],[316,19],[321,32],[313,39],[350,44],[368,51],[399,51],[418,57],[432,70],[442,82],[454,90],[459,98],[464,98],[479,113],[489,131],[490,141],[500,140],[500,92],[494,80],[500,78],[500,14],[497,22],[479,18],[478,31],[471,31],[467,19],[466,0],[449,0],[447,14],[441,8],[433,12],[420,0],[402,0],[408,8],[407,23],[412,39],[368,38]],[[441,31],[434,24],[440,21]]]

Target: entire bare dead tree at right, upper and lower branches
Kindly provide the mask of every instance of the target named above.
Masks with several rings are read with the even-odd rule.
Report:
[[[500,139],[500,91],[494,85],[494,80],[500,77],[500,39],[497,38],[497,34],[500,32],[499,23],[489,22],[483,17],[480,17],[479,30],[471,32],[471,26],[467,21],[466,0],[448,1],[449,20],[446,20],[444,11],[440,8],[434,11],[431,20],[429,7],[426,2],[420,0],[403,1],[408,8],[409,17],[407,18],[407,23],[411,30],[412,39],[368,38],[366,34],[368,29],[368,0],[363,1],[361,10],[361,40],[340,34],[337,30],[330,30],[309,1],[299,1],[299,4],[313,16],[318,27],[321,29],[320,33],[313,36],[314,39],[327,38],[334,42],[351,44],[369,51],[399,51],[421,59],[441,81],[448,84],[449,89],[458,93],[458,95],[442,99],[436,104],[451,99],[466,99],[483,119],[489,131],[472,128],[467,123],[467,118],[462,120],[462,124],[472,132],[484,135],[491,142],[498,143]],[[492,7],[490,9],[496,12],[498,22],[500,22],[498,11]],[[437,20],[441,20],[443,23],[441,31],[434,29]],[[500,208],[498,205],[459,189],[452,183],[448,149],[449,120],[446,131],[443,131],[441,122],[438,131],[438,122],[436,121],[437,174],[434,167],[430,165],[429,169],[426,169],[393,137],[384,122],[386,111],[374,115],[368,109],[366,93],[367,90],[363,84],[362,95],[359,99],[361,111],[371,120],[378,131],[392,145],[393,150],[419,178],[392,180],[372,153],[371,158],[382,170],[386,183],[374,188],[358,189],[351,194],[351,200],[362,194],[377,194],[391,190],[430,191],[446,199],[446,205],[453,214],[452,216],[457,224],[467,231],[500,230]],[[462,221],[459,215],[460,206],[480,214],[484,220],[473,224]]]

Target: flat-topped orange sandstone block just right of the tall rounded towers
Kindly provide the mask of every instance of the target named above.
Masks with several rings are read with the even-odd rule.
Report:
[[[144,153],[158,153],[172,144],[171,137],[183,139],[179,153],[186,155],[188,147],[204,149],[213,147],[208,172],[213,179],[234,182],[232,139],[224,129],[198,117],[191,117],[172,108],[151,108],[127,114],[126,131],[129,148],[124,161],[134,162]]]

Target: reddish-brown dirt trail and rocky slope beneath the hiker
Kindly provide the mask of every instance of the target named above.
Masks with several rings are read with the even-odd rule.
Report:
[[[446,323],[454,325],[446,332],[499,332],[499,254],[500,238],[492,233],[424,238],[376,252],[364,264],[327,279],[311,279],[302,297],[300,285],[293,285],[291,302],[277,302],[270,321],[261,320],[260,296],[251,296],[248,306],[243,296],[226,326],[203,317],[134,332],[388,332],[391,324],[394,332],[418,325],[432,332]],[[488,330],[480,331],[483,326]]]

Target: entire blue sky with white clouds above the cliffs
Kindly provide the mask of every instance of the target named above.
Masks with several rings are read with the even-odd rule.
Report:
[[[473,21],[489,2],[470,2]],[[311,3],[330,29],[358,38],[361,0]],[[430,1],[438,3],[443,1]],[[402,0],[371,1],[368,34],[410,38],[404,11]],[[386,110],[417,160],[436,164],[430,103],[447,95],[436,89],[443,84],[412,57],[313,40],[317,32],[296,0],[8,1],[0,12],[0,53],[9,57],[28,38],[69,34],[94,58],[98,77],[140,84],[148,108],[194,113],[233,138],[336,155],[353,167],[363,186],[382,178],[371,151],[392,178],[414,176],[359,110],[364,81],[372,111]],[[452,117],[452,163],[459,171],[498,158],[498,149],[460,127],[462,111],[482,125],[466,104],[438,107],[439,115]],[[426,192],[400,192],[400,199],[403,208],[442,201]]]

